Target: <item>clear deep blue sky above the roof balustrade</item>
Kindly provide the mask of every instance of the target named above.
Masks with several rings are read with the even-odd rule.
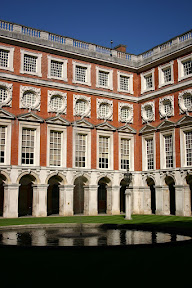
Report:
[[[0,19],[142,53],[192,29],[191,0],[9,0]]]

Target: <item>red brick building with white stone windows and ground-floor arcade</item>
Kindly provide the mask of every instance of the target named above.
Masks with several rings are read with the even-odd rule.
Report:
[[[191,31],[141,55],[0,21],[0,216],[191,215]]]

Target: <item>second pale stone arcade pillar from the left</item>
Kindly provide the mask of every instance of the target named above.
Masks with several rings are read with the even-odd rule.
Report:
[[[35,217],[47,216],[47,184],[33,185],[33,211]]]

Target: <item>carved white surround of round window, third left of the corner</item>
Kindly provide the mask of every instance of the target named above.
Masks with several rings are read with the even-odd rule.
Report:
[[[86,104],[87,104],[86,110],[82,113],[79,113],[77,111],[76,103],[78,100],[82,100],[82,101],[86,102]],[[91,97],[87,97],[84,95],[77,95],[77,94],[73,95],[73,116],[88,117],[88,118],[91,117]]]

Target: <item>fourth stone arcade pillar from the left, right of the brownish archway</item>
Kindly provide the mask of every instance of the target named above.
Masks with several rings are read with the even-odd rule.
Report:
[[[89,185],[88,215],[98,214],[98,185]]]

